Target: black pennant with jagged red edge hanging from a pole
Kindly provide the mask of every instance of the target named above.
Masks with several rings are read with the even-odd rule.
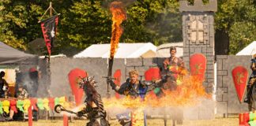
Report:
[[[57,25],[58,25],[58,15],[50,17],[47,20],[41,21],[43,38],[44,38],[45,44],[47,46],[49,55],[51,55],[51,51],[53,48],[53,41],[56,36]]]

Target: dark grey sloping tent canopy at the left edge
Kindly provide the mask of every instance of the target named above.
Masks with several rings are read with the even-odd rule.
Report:
[[[35,59],[36,56],[32,54],[25,54],[20,50],[16,50],[13,47],[0,42],[0,65],[28,63],[29,58]]]

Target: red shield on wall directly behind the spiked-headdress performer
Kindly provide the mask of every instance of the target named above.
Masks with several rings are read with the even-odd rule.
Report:
[[[75,97],[76,105],[81,104],[81,99],[84,95],[84,90],[79,88],[77,81],[80,78],[84,78],[87,76],[87,72],[81,69],[72,69],[69,73],[70,87],[72,91],[72,95]]]

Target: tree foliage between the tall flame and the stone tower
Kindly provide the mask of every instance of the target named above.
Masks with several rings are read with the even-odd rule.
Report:
[[[152,42],[155,45],[182,41],[179,2],[174,0],[142,0],[127,7],[122,41]]]

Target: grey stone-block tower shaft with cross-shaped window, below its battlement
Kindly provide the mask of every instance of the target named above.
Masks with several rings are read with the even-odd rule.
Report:
[[[205,55],[207,62],[204,86],[208,93],[213,92],[214,83],[213,22],[213,12],[183,12],[183,60],[186,68],[190,69],[190,56]],[[201,38],[199,35],[202,35]]]

